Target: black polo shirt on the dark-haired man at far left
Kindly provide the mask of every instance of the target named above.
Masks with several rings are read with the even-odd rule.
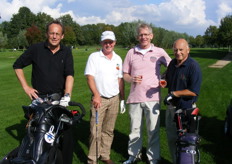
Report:
[[[15,61],[13,68],[23,69],[30,64],[31,83],[39,94],[64,92],[66,77],[74,76],[72,51],[63,45],[53,54],[47,42],[34,44]]]

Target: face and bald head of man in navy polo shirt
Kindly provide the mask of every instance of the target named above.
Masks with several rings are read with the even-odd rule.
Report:
[[[190,49],[185,40],[178,40],[173,46],[173,51],[177,61],[180,63],[188,58]]]

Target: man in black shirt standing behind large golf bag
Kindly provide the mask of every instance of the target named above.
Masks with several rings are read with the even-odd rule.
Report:
[[[68,106],[74,83],[73,56],[70,48],[61,45],[64,27],[59,21],[47,25],[47,40],[30,46],[14,63],[13,68],[25,93],[31,100],[59,93],[60,105]],[[23,68],[32,65],[32,87],[28,85]],[[72,132],[64,133],[62,146],[65,164],[72,163]]]

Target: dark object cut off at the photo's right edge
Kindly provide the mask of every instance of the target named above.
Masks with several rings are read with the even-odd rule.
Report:
[[[226,110],[224,132],[226,135],[232,136],[232,100]]]

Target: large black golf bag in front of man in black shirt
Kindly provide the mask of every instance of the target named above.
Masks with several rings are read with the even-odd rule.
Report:
[[[68,110],[58,105],[57,100],[38,101],[23,106],[28,119],[27,134],[20,146],[8,153],[0,164],[63,164],[63,133],[82,119],[85,109],[76,102],[69,102],[69,106],[77,106],[81,112]]]

